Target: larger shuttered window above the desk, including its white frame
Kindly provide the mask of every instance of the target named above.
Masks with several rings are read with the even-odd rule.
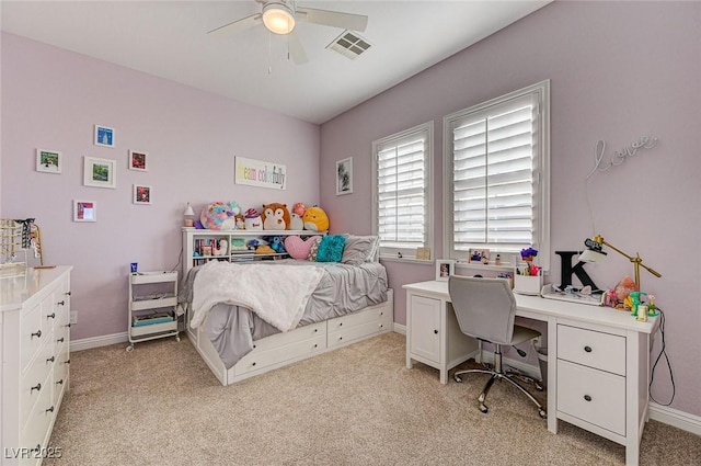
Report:
[[[548,270],[550,81],[448,115],[444,134],[449,257],[533,247]]]

